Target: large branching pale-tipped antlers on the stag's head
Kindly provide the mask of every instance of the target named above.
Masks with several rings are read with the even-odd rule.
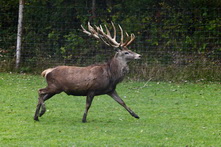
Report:
[[[134,39],[135,39],[135,35],[131,34],[130,37],[128,35],[128,33],[126,32],[126,36],[127,36],[127,40],[124,42],[124,36],[123,36],[123,29],[121,28],[120,25],[118,25],[120,32],[121,32],[121,41],[120,43],[116,41],[116,28],[114,26],[114,23],[111,22],[113,29],[114,29],[114,36],[111,36],[110,31],[108,30],[107,26],[105,26],[105,30],[106,33],[103,30],[103,27],[100,25],[95,26],[95,29],[90,25],[90,22],[88,22],[88,31],[81,25],[81,28],[83,29],[83,32],[89,36],[93,36],[96,39],[100,39],[102,40],[106,45],[108,46],[112,46],[112,47],[127,47],[128,45],[130,45]]]

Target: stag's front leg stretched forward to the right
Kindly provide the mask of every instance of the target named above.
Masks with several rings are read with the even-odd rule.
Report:
[[[135,117],[137,119],[140,118],[129,107],[127,107],[127,105],[124,103],[124,101],[118,96],[116,91],[113,91],[113,92],[109,93],[108,95],[111,96],[115,101],[117,101],[121,106],[123,106],[133,117]]]

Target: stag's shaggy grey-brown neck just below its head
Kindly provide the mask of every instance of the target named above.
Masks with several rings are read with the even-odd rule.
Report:
[[[121,82],[124,76],[129,72],[129,67],[125,60],[113,57],[109,63],[112,80],[116,83]]]

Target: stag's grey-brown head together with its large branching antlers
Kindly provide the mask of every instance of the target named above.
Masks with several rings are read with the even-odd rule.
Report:
[[[126,62],[133,60],[133,59],[140,59],[141,58],[140,54],[137,54],[127,48],[127,46],[129,46],[134,41],[135,35],[133,33],[131,35],[128,35],[128,33],[126,32],[125,34],[126,34],[127,39],[124,42],[123,29],[120,25],[118,25],[120,32],[121,32],[121,40],[120,42],[117,42],[116,41],[116,28],[113,22],[111,22],[111,24],[114,30],[113,37],[111,36],[111,33],[106,25],[104,25],[106,33],[104,32],[104,29],[101,25],[99,27],[98,26],[92,27],[90,25],[90,22],[88,22],[88,31],[82,25],[81,25],[81,28],[83,29],[83,32],[88,34],[89,36],[102,40],[106,45],[112,46],[113,48],[115,48],[115,50],[117,51],[115,54],[116,58],[122,59]]]

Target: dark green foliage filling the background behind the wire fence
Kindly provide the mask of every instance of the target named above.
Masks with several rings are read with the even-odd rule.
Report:
[[[92,9],[90,0],[26,0],[21,65],[24,71],[57,64],[88,65],[109,58],[113,54],[111,49],[85,37],[80,30],[80,25],[86,26],[88,21],[110,28],[113,21],[134,33],[136,41],[131,49],[145,57],[144,65],[157,62],[159,66],[180,67],[181,64],[174,65],[177,53],[186,59],[189,54],[197,54],[210,63],[220,64],[219,1],[95,2]],[[14,63],[18,1],[3,0],[0,4],[0,62]],[[182,66],[186,68],[186,64]]]

